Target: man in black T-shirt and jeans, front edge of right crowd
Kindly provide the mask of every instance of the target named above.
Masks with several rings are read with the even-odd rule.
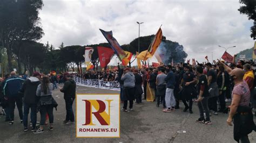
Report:
[[[211,125],[212,122],[210,120],[210,111],[208,108],[208,97],[209,97],[209,91],[208,91],[208,82],[206,75],[203,74],[204,69],[203,67],[197,67],[196,68],[196,74],[198,77],[198,84],[197,84],[197,91],[198,91],[198,99],[196,100],[198,108],[199,108],[199,119],[197,122],[203,123],[205,125]],[[204,111],[206,115],[206,119],[204,117]]]

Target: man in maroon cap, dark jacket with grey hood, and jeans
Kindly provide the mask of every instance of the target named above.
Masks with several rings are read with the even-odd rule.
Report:
[[[28,116],[29,116],[29,109],[30,118],[32,123],[31,131],[36,130],[36,109],[37,109],[37,96],[36,90],[38,85],[40,84],[40,73],[35,71],[31,77],[29,77],[22,85],[22,89],[20,90],[23,94],[23,105],[24,105],[24,113],[23,113],[23,125],[24,125],[24,132],[28,131]]]

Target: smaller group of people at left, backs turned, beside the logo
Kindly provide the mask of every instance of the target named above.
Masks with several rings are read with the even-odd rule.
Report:
[[[64,124],[74,123],[72,104],[76,97],[76,83],[67,72],[60,78],[64,82],[60,92],[64,93],[66,117]],[[59,81],[58,81],[59,82]],[[14,124],[15,106],[17,106],[20,122],[24,125],[24,132],[29,129],[28,115],[30,111],[31,131],[35,134],[43,133],[44,126],[48,125],[49,130],[53,130],[53,108],[57,110],[57,102],[53,98],[52,90],[57,89],[57,76],[43,75],[35,71],[31,77],[19,77],[15,71],[0,78],[0,101],[2,114],[5,121],[10,125]],[[37,127],[37,113],[40,113],[41,120]]]

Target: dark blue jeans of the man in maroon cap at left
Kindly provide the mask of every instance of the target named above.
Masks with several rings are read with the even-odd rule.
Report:
[[[36,120],[37,120],[36,108],[37,108],[36,104],[26,104],[26,103],[23,104],[23,110],[24,110],[23,125],[24,125],[24,127],[28,127],[29,109],[31,110],[30,119],[31,119],[32,127],[33,128],[36,127]]]

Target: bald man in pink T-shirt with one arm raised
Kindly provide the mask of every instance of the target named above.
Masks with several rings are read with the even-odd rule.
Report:
[[[230,113],[228,114],[227,124],[234,124],[234,140],[237,142],[250,142],[248,134],[256,130],[252,108],[250,104],[250,88],[243,80],[244,71],[240,68],[231,69],[223,62],[219,61],[220,65],[230,74],[234,88],[232,91],[232,102],[230,105]]]

